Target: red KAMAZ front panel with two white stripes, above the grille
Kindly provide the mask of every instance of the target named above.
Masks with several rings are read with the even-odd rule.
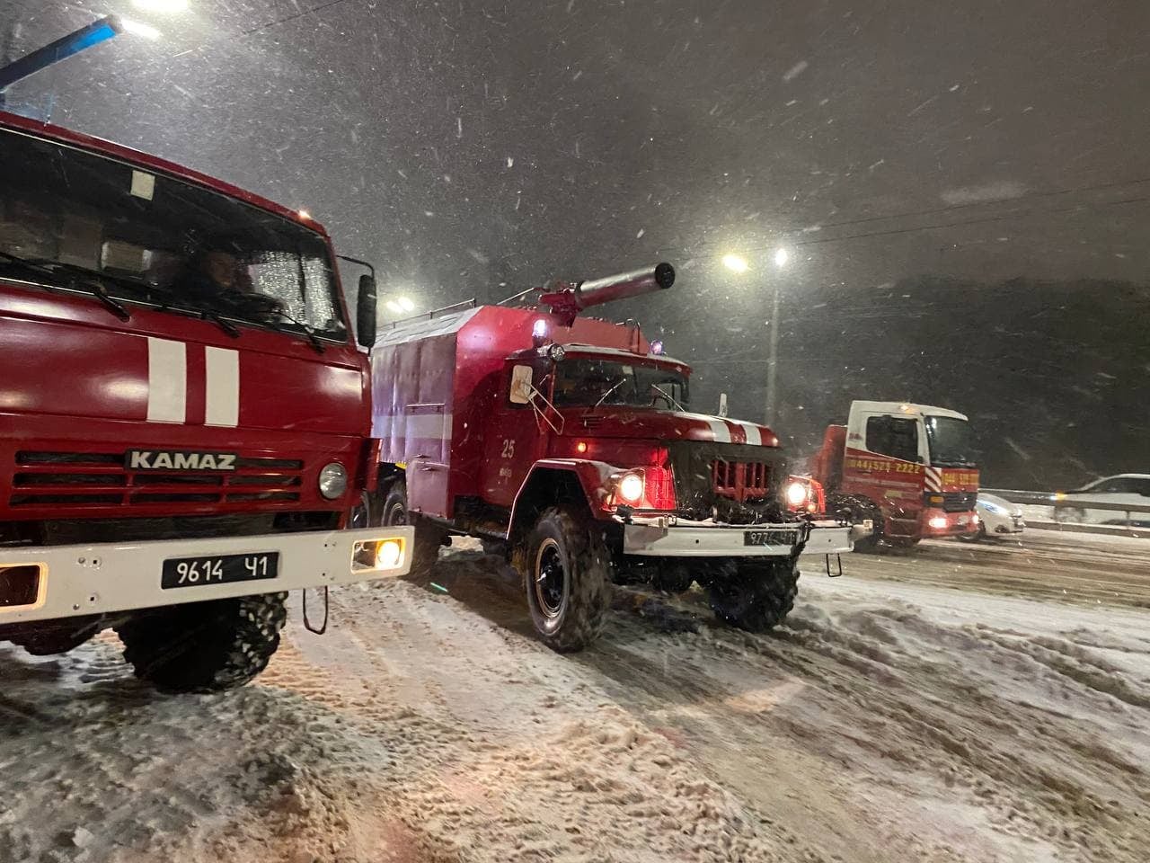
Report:
[[[319,353],[294,334],[240,326],[232,338],[197,318],[5,283],[0,413],[215,430],[363,434],[366,362],[346,344]],[[125,434],[126,427],[125,427]],[[139,434],[133,430],[131,434]]]

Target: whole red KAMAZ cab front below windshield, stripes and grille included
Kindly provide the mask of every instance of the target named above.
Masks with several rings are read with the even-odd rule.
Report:
[[[319,476],[363,458],[354,348],[129,308],[0,285],[0,520],[346,510]]]

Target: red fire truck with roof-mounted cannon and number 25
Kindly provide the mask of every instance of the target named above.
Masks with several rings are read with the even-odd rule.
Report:
[[[415,527],[417,571],[451,534],[503,543],[560,651],[593,640],[612,580],[698,581],[721,619],[760,631],[790,611],[800,553],[850,550],[770,429],[690,412],[685,364],[637,326],[578,316],[673,281],[660,264],[538,306],[463,304],[391,324],[371,354],[382,522]]]

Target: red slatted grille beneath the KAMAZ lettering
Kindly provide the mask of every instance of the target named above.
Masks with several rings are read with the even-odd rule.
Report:
[[[156,503],[246,503],[300,499],[304,463],[237,458],[228,473],[130,471],[116,452],[17,452],[13,507]]]

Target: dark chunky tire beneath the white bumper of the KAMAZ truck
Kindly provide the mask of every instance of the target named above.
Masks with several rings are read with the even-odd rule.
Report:
[[[279,647],[288,594],[210,599],[143,611],[116,627],[136,677],[168,693],[232,689]]]

